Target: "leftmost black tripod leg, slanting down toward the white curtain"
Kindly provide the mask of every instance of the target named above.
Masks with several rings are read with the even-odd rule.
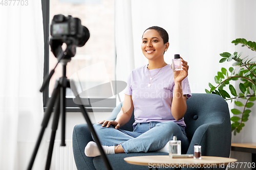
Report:
[[[47,110],[46,110],[44,119],[42,120],[41,130],[40,130],[39,136],[37,138],[36,145],[35,145],[32,157],[31,157],[30,162],[29,162],[29,166],[27,168],[28,170],[31,170],[32,166],[34,164],[35,157],[36,157],[36,154],[38,152],[38,149],[39,149],[39,146],[40,146],[40,143],[41,143],[41,140],[42,140],[42,136],[44,136],[45,129],[46,129],[48,123],[49,123],[49,119],[51,117],[53,106],[54,106],[55,100],[56,100],[58,92],[59,92],[58,88],[59,88],[59,83],[56,82],[55,88],[54,88],[53,93],[52,93],[52,97],[50,98],[50,100],[47,103]]]

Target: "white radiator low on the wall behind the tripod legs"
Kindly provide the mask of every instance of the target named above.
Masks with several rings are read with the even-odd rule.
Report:
[[[49,143],[50,140],[48,141],[48,146]],[[50,169],[77,170],[73,156],[72,141],[66,141],[66,147],[60,147],[60,140],[55,140]]]

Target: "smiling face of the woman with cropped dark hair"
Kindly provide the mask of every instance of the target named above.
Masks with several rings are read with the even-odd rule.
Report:
[[[148,60],[157,60],[163,57],[168,48],[168,42],[163,39],[156,30],[146,30],[142,36],[141,50]]]

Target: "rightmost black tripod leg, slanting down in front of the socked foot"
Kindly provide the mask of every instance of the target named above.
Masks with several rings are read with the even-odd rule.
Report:
[[[75,87],[75,86],[72,87],[72,91],[74,92],[74,94],[75,94],[75,96],[76,96],[76,100],[78,101],[78,103],[82,103],[82,101],[81,101],[81,99],[80,99],[80,96],[79,96],[79,94],[77,93],[77,90],[76,90],[76,87]],[[103,162],[104,162],[104,164],[105,164],[105,166],[106,166],[106,169],[112,170],[112,167],[111,167],[111,165],[110,165],[110,162],[109,162],[108,158],[106,157],[105,152],[104,152],[103,149],[102,149],[102,146],[101,146],[101,144],[100,144],[99,138],[98,138],[98,136],[97,136],[97,134],[96,134],[96,132],[95,132],[95,130],[94,130],[94,128],[93,128],[92,122],[91,122],[91,120],[90,120],[90,118],[89,118],[89,116],[88,116],[88,114],[87,114],[86,109],[83,107],[83,105],[78,105],[78,106],[80,107],[80,109],[81,109],[81,111],[82,111],[82,114],[83,114],[83,116],[84,116],[84,118],[86,119],[86,122],[87,122],[87,124],[88,124],[89,130],[90,130],[90,132],[92,133],[92,135],[93,135],[93,137],[94,137],[94,140],[95,140],[95,142],[96,142],[97,145],[98,145],[98,148],[99,148],[99,151],[100,151],[100,154],[101,154],[101,158],[102,158],[102,160],[103,160]]]

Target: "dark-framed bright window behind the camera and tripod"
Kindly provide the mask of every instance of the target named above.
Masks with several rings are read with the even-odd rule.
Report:
[[[49,25],[54,15],[72,15],[81,19],[83,26],[90,31],[90,38],[82,47],[76,47],[76,55],[67,64],[67,78],[76,81],[76,87],[82,98],[89,102],[84,105],[100,111],[111,111],[116,105],[116,97],[110,96],[108,89],[101,84],[115,80],[115,44],[114,44],[114,0],[42,0],[45,32],[45,77],[54,68],[57,59],[49,46]],[[59,63],[51,78],[49,87],[44,91],[44,107],[51,96],[55,82],[62,77],[62,65]],[[93,90],[83,95],[86,90]],[[67,88],[67,111],[79,111],[73,102],[74,94]],[[104,99],[104,100],[103,100]],[[93,109],[93,110],[94,110]],[[94,110],[95,111],[95,110]]]

